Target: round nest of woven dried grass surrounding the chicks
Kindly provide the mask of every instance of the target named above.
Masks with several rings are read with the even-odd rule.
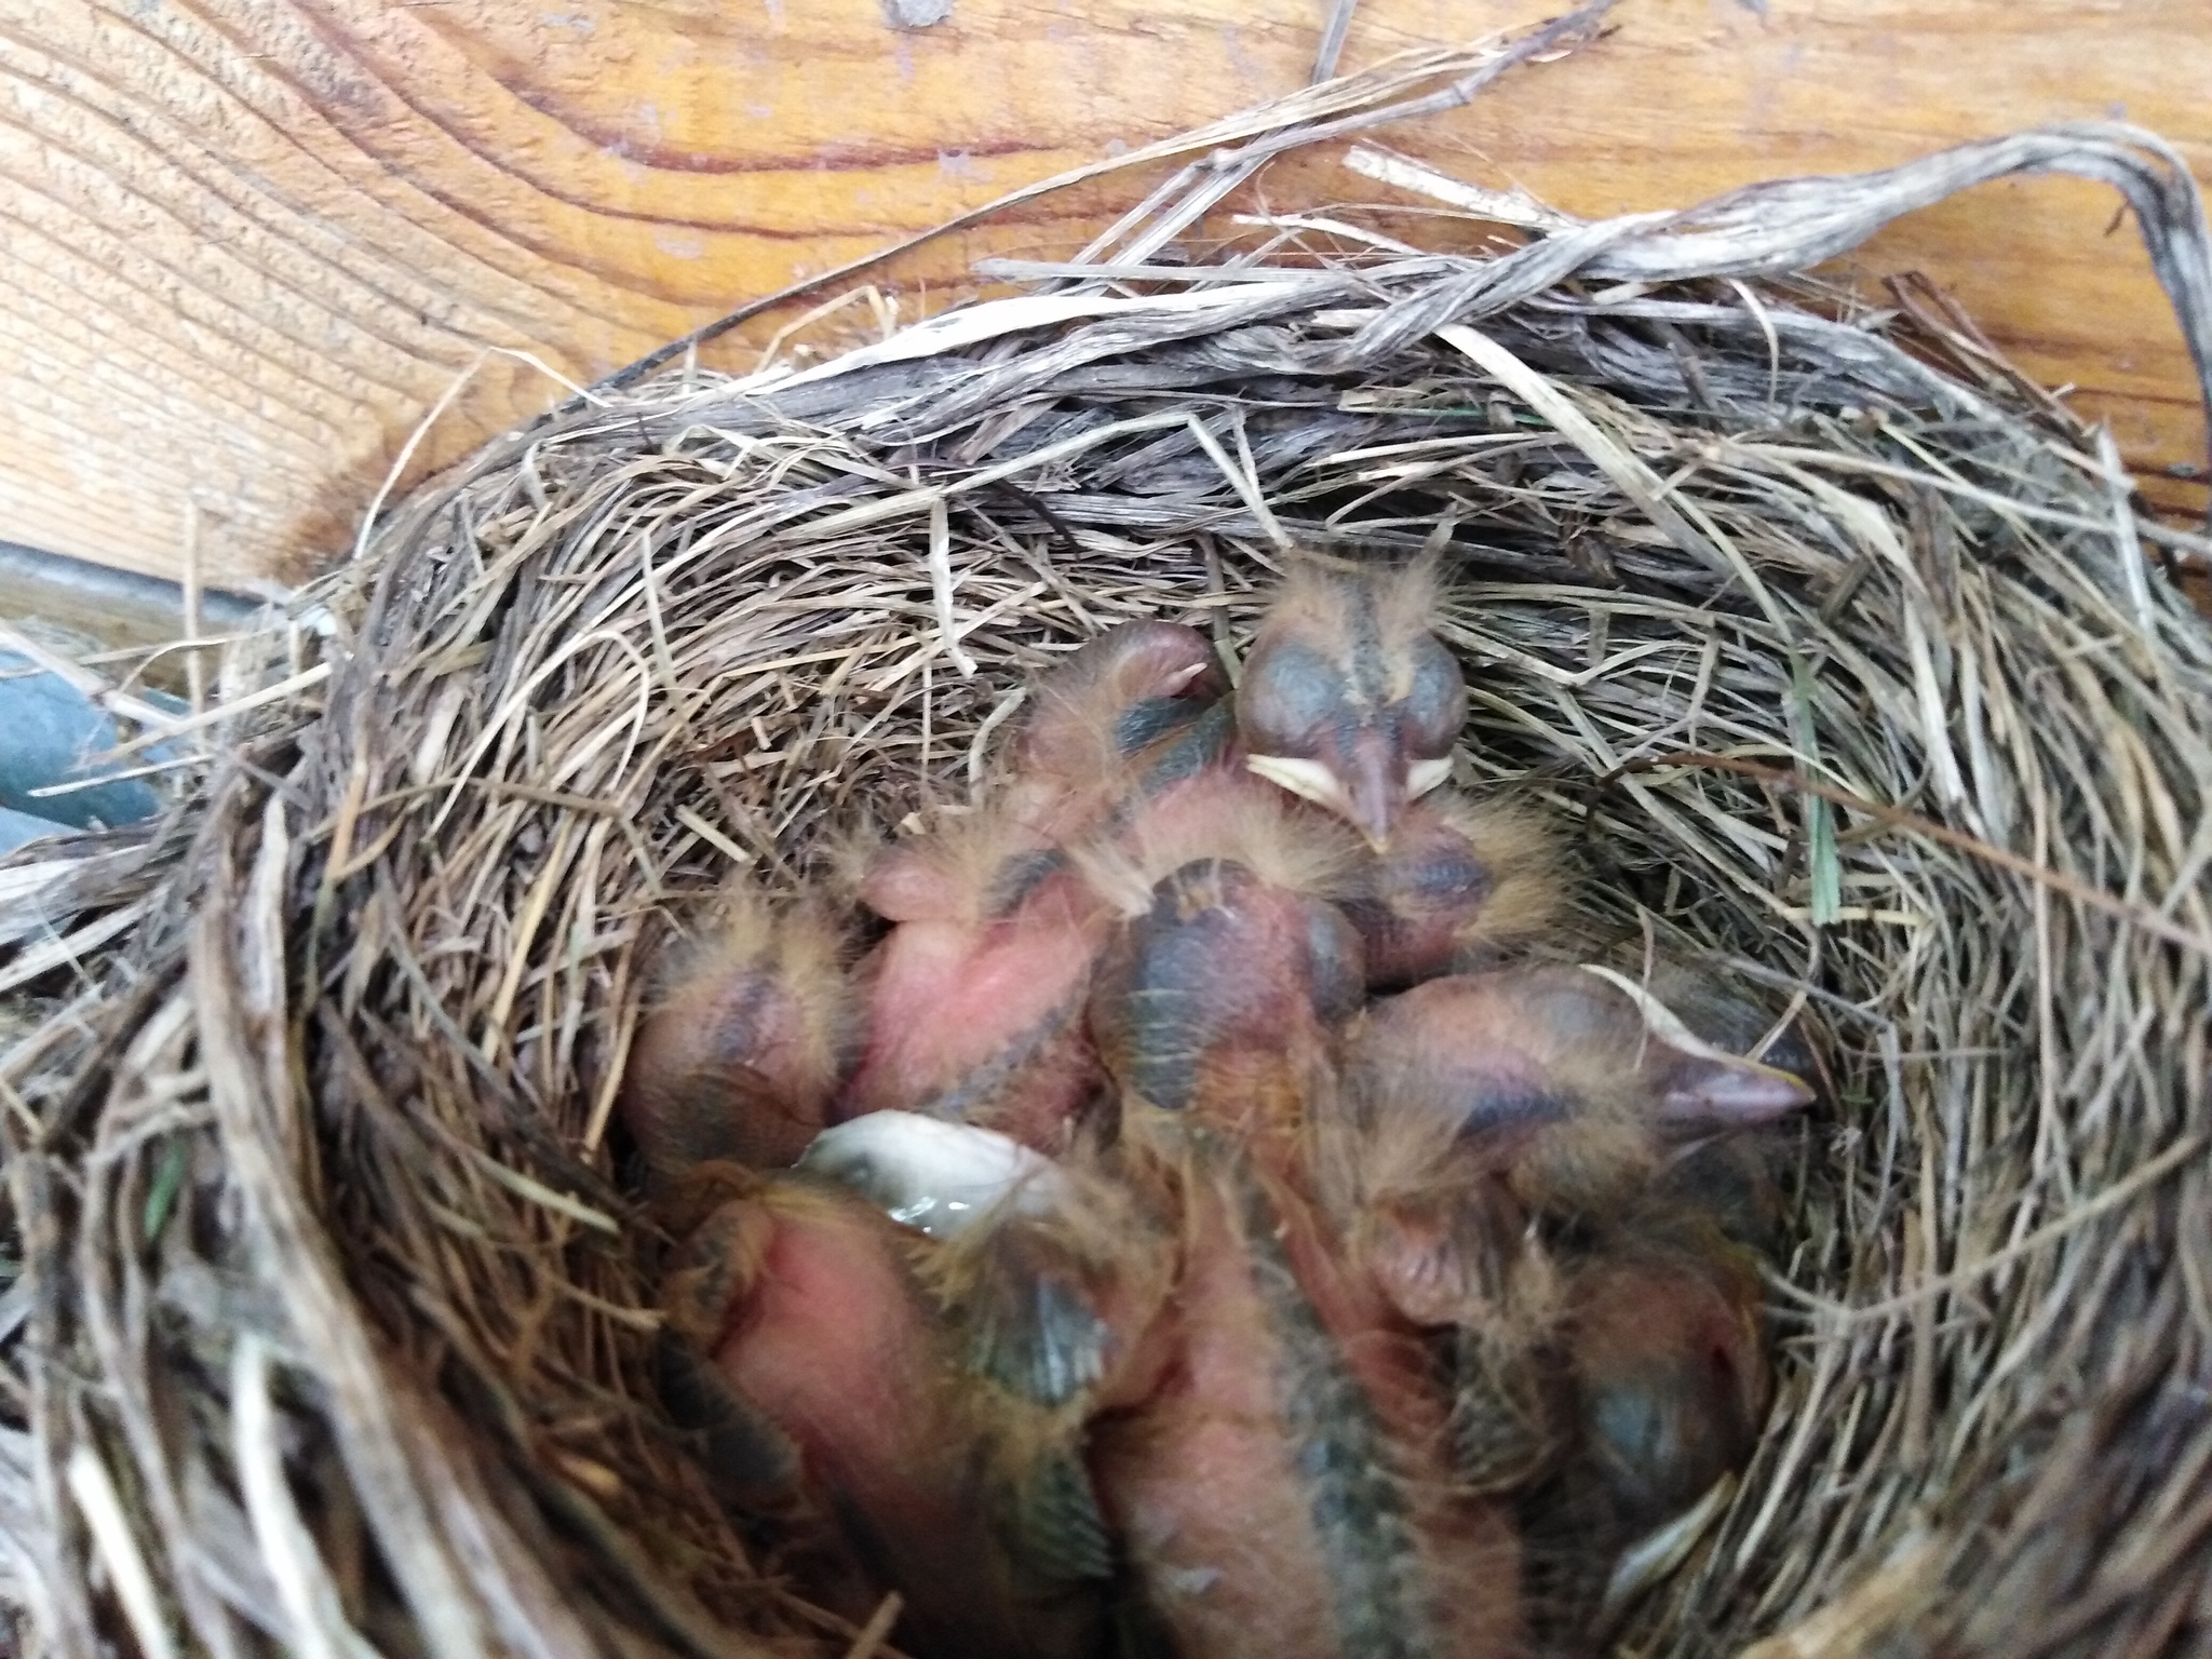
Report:
[[[2197,195],[2077,128],[1155,261],[1513,51],[1245,122],[1029,296],[573,400],[232,644],[166,818],[0,865],[0,1646],[845,1652],[655,1405],[608,1144],[653,953],[967,799],[1110,622],[1234,644],[1296,540],[1440,549],[1471,776],[1597,929],[1832,1040],[1765,1444],[1626,1650],[2212,1648],[2212,635],[2146,542],[2205,546],[1958,316],[1787,274],[2081,170],[2205,363]]]

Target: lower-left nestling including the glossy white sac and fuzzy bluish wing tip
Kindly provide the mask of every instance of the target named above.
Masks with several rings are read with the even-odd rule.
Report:
[[[1084,1467],[1168,1254],[1095,1177],[876,1113],[803,1164],[697,1170],[661,1285],[664,1398],[821,1604],[925,1659],[1104,1659],[1119,1562]]]

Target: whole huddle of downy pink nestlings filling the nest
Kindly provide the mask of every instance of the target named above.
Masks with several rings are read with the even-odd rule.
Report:
[[[1433,615],[1305,557],[1234,688],[1104,633],[973,807],[670,962],[622,1093],[670,1416],[902,1652],[1575,1652],[1759,1440],[1812,1055],[1577,960]]]

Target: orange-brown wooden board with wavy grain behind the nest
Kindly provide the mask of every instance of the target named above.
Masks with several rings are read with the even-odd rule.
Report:
[[[1298,86],[1323,9],[951,0],[894,29],[891,2],[0,0],[0,540],[177,575],[197,504],[204,580],[299,580],[343,553],[460,376],[416,469],[557,398],[549,372],[597,376]],[[1345,64],[1544,11],[1363,0]],[[2048,119],[2126,115],[2212,168],[2203,0],[1626,0],[1617,18],[1389,142],[1584,215]],[[1068,252],[1137,184],[951,237],[891,288],[914,316],[984,252]],[[1263,186],[1378,195],[1327,159]],[[2135,465],[2194,460],[2179,334],[2115,208],[2062,179],[1984,186],[1851,265],[1936,274],[2028,369],[2084,387]]]

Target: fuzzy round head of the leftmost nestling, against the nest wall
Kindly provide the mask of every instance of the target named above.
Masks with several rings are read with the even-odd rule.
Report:
[[[805,1150],[854,1048],[843,956],[818,909],[745,891],[677,956],[619,1095],[650,1181],[710,1159],[781,1168]]]

